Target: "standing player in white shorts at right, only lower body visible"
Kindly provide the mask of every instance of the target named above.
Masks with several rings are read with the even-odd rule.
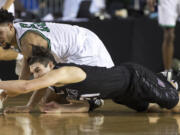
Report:
[[[158,2],[158,22],[164,30],[162,54],[165,70],[171,70],[174,54],[174,30],[180,15],[180,0],[147,0],[150,10]]]

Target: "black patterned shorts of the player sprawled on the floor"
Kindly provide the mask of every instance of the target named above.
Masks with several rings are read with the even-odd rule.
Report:
[[[123,97],[114,99],[137,111],[145,111],[149,103],[172,109],[178,104],[178,92],[165,77],[157,76],[136,64],[123,64],[131,72],[131,87]]]

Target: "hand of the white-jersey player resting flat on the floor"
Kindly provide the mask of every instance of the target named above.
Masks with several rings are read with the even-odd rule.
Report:
[[[27,106],[6,107],[4,109],[4,113],[29,113],[30,111],[31,108]]]

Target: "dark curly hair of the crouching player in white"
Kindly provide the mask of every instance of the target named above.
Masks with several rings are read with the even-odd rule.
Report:
[[[8,12],[5,9],[0,9],[0,23],[6,23],[6,22],[10,22],[13,23],[14,20],[14,16],[12,13]]]

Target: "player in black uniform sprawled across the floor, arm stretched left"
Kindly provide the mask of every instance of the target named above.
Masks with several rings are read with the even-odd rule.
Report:
[[[93,110],[87,97],[112,99],[138,112],[147,111],[150,103],[161,108],[180,112],[178,91],[173,84],[159,74],[131,63],[113,68],[92,67],[76,64],[56,64],[50,52],[36,47],[28,63],[33,80],[0,82],[8,96],[28,93],[51,86],[56,93],[63,92],[77,100],[70,104],[47,103],[44,112],[88,112]],[[85,100],[84,100],[85,99]]]

